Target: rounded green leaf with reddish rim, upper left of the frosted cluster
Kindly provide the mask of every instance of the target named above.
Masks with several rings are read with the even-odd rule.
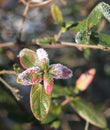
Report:
[[[20,63],[23,68],[27,69],[38,65],[38,58],[34,51],[30,49],[23,49],[19,54]]]

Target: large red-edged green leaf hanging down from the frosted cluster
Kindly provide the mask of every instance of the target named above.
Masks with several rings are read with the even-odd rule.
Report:
[[[46,94],[42,84],[32,86],[30,93],[31,110],[36,119],[42,121],[46,118],[51,103],[51,94]]]

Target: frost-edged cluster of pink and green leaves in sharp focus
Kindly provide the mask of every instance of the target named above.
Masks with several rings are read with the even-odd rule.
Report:
[[[22,85],[32,85],[31,109],[37,119],[43,120],[50,107],[53,79],[71,78],[72,71],[62,64],[49,65],[48,54],[44,49],[38,49],[36,53],[23,49],[19,58],[26,70],[18,75],[17,82]]]

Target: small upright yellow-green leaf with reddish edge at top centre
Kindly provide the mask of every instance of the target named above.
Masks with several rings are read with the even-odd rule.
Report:
[[[51,6],[51,14],[52,14],[52,17],[53,17],[55,23],[62,26],[64,21],[63,21],[62,13],[61,13],[60,9],[58,8],[58,6],[56,6],[56,5]]]

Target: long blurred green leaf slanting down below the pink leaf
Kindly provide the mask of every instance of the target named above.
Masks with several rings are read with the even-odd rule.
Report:
[[[105,118],[80,98],[72,99],[70,104],[87,122],[100,128],[107,127]]]

